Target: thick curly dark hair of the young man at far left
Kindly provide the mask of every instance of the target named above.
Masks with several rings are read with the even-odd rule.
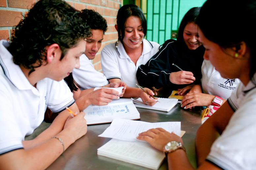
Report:
[[[14,27],[8,50],[14,63],[30,69],[30,74],[46,61],[47,46],[57,43],[62,59],[81,38],[91,36],[89,29],[80,12],[65,1],[40,0]]]

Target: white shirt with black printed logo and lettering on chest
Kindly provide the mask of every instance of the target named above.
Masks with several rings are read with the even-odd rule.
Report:
[[[228,99],[233,90],[240,83],[239,79],[225,79],[215,70],[210,61],[204,60],[202,64],[202,87],[206,94]]]

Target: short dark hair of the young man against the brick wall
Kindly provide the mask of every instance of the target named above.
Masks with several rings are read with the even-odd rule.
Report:
[[[108,29],[108,24],[105,18],[94,10],[84,9],[81,11],[81,17],[92,30],[102,30],[105,33]]]

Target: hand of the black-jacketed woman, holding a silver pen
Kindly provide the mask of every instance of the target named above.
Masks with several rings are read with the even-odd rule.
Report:
[[[177,66],[174,63],[172,65],[177,67],[180,71],[172,72],[170,74],[169,80],[171,83],[176,85],[185,85],[185,84],[191,84],[196,80],[192,72],[183,71],[179,66]]]

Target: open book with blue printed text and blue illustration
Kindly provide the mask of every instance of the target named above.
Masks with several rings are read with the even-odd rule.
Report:
[[[86,124],[110,123],[114,118],[122,119],[140,119],[140,113],[134,106],[132,99],[112,100],[106,106],[90,105],[83,110]]]

